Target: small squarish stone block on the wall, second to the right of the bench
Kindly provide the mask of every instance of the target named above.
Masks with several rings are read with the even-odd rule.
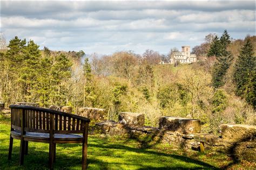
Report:
[[[145,115],[132,112],[120,112],[118,122],[127,125],[144,126]]]

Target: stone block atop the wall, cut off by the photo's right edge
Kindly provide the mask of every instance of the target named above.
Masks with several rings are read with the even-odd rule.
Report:
[[[242,124],[222,124],[221,138],[230,142],[252,140],[256,136],[256,126]]]

